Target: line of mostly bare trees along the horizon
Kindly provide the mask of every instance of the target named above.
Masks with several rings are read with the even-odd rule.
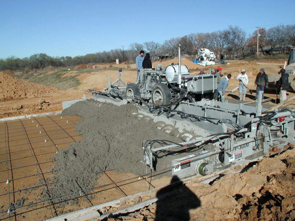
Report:
[[[223,55],[226,59],[255,55],[257,52],[257,35],[259,51],[272,54],[273,51],[288,52],[289,46],[295,46],[295,24],[278,25],[270,29],[258,29],[247,36],[246,32],[238,26],[229,26],[225,30],[218,30],[211,33],[191,33],[183,37],[165,40],[163,44],[150,41],[143,43],[131,43],[128,50],[115,49],[94,54],[87,54],[76,57],[50,57],[45,53],[34,54],[30,57],[18,58],[15,56],[0,60],[0,70],[24,70],[42,69],[46,66],[71,67],[81,63],[112,63],[116,59],[120,62],[134,63],[135,57],[140,50],[154,55],[171,55],[176,57],[178,45],[181,44],[181,53],[194,56],[200,48],[208,48],[215,52],[220,58]]]

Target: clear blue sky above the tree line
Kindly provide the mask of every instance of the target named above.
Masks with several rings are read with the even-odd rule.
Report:
[[[133,42],[160,44],[229,25],[247,34],[295,24],[295,0],[273,1],[63,1],[0,0],[0,58],[86,55],[128,49]],[[289,10],[289,11],[288,11]],[[295,31],[295,30],[294,30]]]

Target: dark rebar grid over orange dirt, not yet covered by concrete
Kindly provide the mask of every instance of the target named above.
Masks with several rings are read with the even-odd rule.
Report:
[[[22,124],[21,129],[19,126],[17,126],[16,122],[13,122],[13,124],[9,123],[9,125],[7,125],[7,122],[4,121],[5,122],[4,125],[6,125],[6,128],[0,130],[0,131],[4,132],[4,133],[0,134],[0,141],[1,141],[1,139],[3,139],[3,136],[1,136],[1,135],[4,135],[4,139],[5,139],[5,146],[0,147],[0,150],[1,149],[4,150],[4,148],[6,150],[5,153],[0,154],[0,157],[3,156],[4,154],[6,154],[6,159],[1,160],[0,163],[7,164],[7,166],[6,166],[7,168],[6,169],[3,169],[3,167],[0,168],[0,172],[7,171],[7,178],[9,180],[9,182],[12,182],[12,183],[14,183],[18,180],[22,180],[23,178],[27,179],[28,177],[31,177],[33,179],[35,179],[34,177],[36,177],[36,178],[39,177],[39,179],[40,179],[40,184],[37,184],[37,185],[32,185],[33,184],[32,183],[30,186],[27,186],[24,188],[19,188],[19,189],[13,188],[13,189],[8,189],[8,192],[5,192],[5,193],[0,192],[0,197],[8,197],[9,198],[12,194],[14,195],[15,199],[13,200],[13,202],[10,202],[10,201],[12,201],[12,199],[9,198],[8,199],[9,203],[15,203],[16,200],[18,199],[17,197],[24,197],[23,195],[21,195],[21,194],[25,194],[24,192],[28,192],[28,191],[32,192],[33,190],[36,190],[37,192],[39,192],[41,188],[43,188],[43,191],[45,192],[45,191],[47,191],[48,188],[51,187],[51,185],[58,182],[58,181],[55,181],[55,182],[48,182],[47,181],[46,182],[46,179],[45,179],[45,174],[49,174],[53,171],[58,173],[57,170],[55,170],[53,168],[46,169],[48,166],[44,167],[45,169],[41,168],[42,164],[45,164],[45,166],[46,166],[47,163],[53,163],[54,160],[42,161],[42,158],[38,159],[38,157],[41,155],[43,156],[45,154],[54,154],[56,151],[59,151],[60,149],[65,148],[66,144],[70,145],[71,143],[76,142],[77,140],[81,140],[80,139],[81,137],[78,134],[70,135],[70,133],[76,132],[76,131],[74,131],[74,130],[67,131],[67,129],[73,129],[74,128],[73,126],[65,128],[65,126],[69,126],[67,123],[65,123],[65,121],[69,121],[69,118],[63,117],[60,119],[55,119],[55,116],[45,116],[45,118],[47,120],[44,120],[43,118],[38,117],[38,118],[31,118],[30,119],[32,121],[34,120],[34,122],[36,122],[36,124],[38,123],[38,125],[40,126],[40,129],[42,128],[41,135],[39,134],[39,131],[40,131],[39,129],[38,129],[37,135],[35,135],[35,133],[32,133],[33,131],[36,131],[36,128],[35,128],[36,126],[30,125],[31,122],[28,122],[27,118],[18,121],[18,125],[20,125],[20,123]],[[79,118],[79,120],[80,119],[81,118]],[[32,122],[32,123],[34,123],[34,122]],[[44,125],[44,122],[46,123],[46,125]],[[76,125],[76,123],[74,123],[73,121],[71,121],[71,123]],[[71,125],[73,125],[73,124],[71,124]],[[53,125],[55,125],[55,126],[53,126]],[[0,122],[0,126],[1,126],[1,122]],[[54,128],[58,128],[58,129],[54,129]],[[10,129],[12,129],[12,132],[11,132],[12,136],[8,137]],[[17,129],[17,132],[15,131],[16,129]],[[51,132],[57,131],[57,130],[62,130],[63,132],[59,132],[59,133],[55,133],[55,134],[51,133]],[[20,135],[15,134],[15,133],[20,133],[20,132],[24,133],[24,135],[22,135],[22,136],[24,136],[25,138],[18,138],[18,136],[20,136]],[[58,138],[52,137],[52,136],[62,135],[62,134],[65,134],[65,135],[62,137],[58,137]],[[34,147],[35,143],[44,142],[43,139],[35,141],[35,139],[38,138],[38,136],[46,136],[47,141],[50,141],[50,142],[48,142],[49,144],[46,143],[46,145],[38,145],[38,146],[35,145],[35,147]],[[71,141],[58,142],[58,143],[55,142],[55,141],[60,141],[60,139],[66,139],[66,138],[70,138]],[[26,142],[22,142],[22,140],[24,140],[24,139],[26,139]],[[12,146],[9,145],[10,140],[14,143],[14,145],[12,145]],[[16,144],[17,142],[22,142],[22,144]],[[59,148],[58,145],[60,145],[60,144],[62,144],[63,147]],[[20,149],[16,150],[17,146],[20,146]],[[27,146],[27,147],[23,148],[23,146]],[[13,147],[14,150],[11,150],[10,149],[11,147]],[[51,148],[53,147],[54,151],[46,151],[46,152],[42,152],[40,154],[35,152],[38,149],[40,149],[40,151],[42,151],[43,149],[48,149],[49,147],[51,147]],[[17,156],[16,154],[19,154],[19,153],[21,154],[22,153],[21,151],[30,151],[30,154],[23,153],[23,154],[25,154],[25,156]],[[11,154],[14,154],[15,156],[11,157]],[[30,158],[32,158],[35,163],[32,163],[32,164],[26,163]],[[17,162],[23,161],[24,164],[13,166],[11,162],[14,160]],[[10,164],[8,164],[8,162],[10,162]],[[2,165],[4,165],[4,164],[2,164]],[[14,169],[25,168],[28,166],[35,166],[37,172],[35,172],[34,174],[28,174],[25,176],[9,177],[9,173],[13,173]],[[112,175],[110,176],[110,174],[107,174],[106,172],[108,172],[108,171],[99,171],[96,173],[102,173],[102,174],[106,175],[106,177],[108,177],[108,179],[110,180],[110,183],[108,183],[109,181],[104,180],[106,183],[103,183],[103,185],[98,185],[98,186],[95,186],[95,187],[89,188],[89,189],[82,189],[80,187],[81,191],[79,191],[79,192],[65,194],[63,196],[53,197],[53,198],[48,197],[46,199],[39,199],[39,200],[35,199],[35,201],[33,201],[33,202],[29,202],[29,203],[18,205],[18,206],[15,204],[12,204],[12,205],[14,205],[12,210],[0,211],[0,220],[7,220],[7,219],[11,220],[11,217],[13,217],[14,220],[18,220],[18,219],[20,219],[20,218],[17,218],[17,216],[19,216],[19,215],[30,214],[31,212],[39,211],[40,209],[41,209],[40,211],[42,211],[43,208],[50,208],[50,210],[52,211],[50,216],[60,215],[60,214],[58,214],[60,212],[58,212],[58,210],[56,210],[56,208],[55,208],[55,204],[57,202],[58,203],[59,202],[67,202],[68,200],[71,200],[71,199],[84,199],[83,202],[88,202],[89,205],[91,206],[94,203],[91,202],[89,196],[99,198],[99,195],[101,193],[103,193],[104,191],[116,191],[116,189],[117,189],[117,190],[119,190],[119,192],[117,192],[117,194],[121,194],[121,197],[124,197],[124,196],[127,196],[127,194],[122,190],[121,186],[130,185],[130,184],[134,185],[135,183],[137,183],[139,181],[138,178],[142,178],[143,176],[145,176],[145,175],[142,176],[139,174],[139,176],[137,176],[137,177],[131,177],[129,179],[124,179],[124,180],[119,180],[117,182],[114,182],[114,179],[116,179],[116,178],[112,177]],[[146,176],[149,176],[151,178],[152,174],[146,174]],[[149,178],[146,177],[145,179],[147,180]],[[38,178],[36,180],[38,180]],[[142,180],[142,179],[140,179],[140,180]],[[4,185],[4,182],[6,182],[6,180],[0,181],[0,184]],[[79,186],[78,183],[77,183],[77,185]],[[151,183],[150,183],[150,186],[152,186],[152,188],[155,188],[153,185],[151,185]],[[142,187],[140,187],[140,188],[142,188]],[[143,188],[142,191],[145,191],[145,189]],[[133,190],[132,190],[132,192],[133,192]],[[15,197],[15,196],[17,196],[17,197]],[[95,199],[95,200],[99,200],[99,199]],[[7,207],[5,206],[5,208],[7,208]],[[9,212],[9,213],[7,213],[7,212]],[[40,218],[40,220],[41,219],[42,218]]]

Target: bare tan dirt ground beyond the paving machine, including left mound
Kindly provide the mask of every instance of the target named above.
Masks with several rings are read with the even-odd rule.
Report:
[[[187,65],[190,69],[191,75],[199,73],[200,69],[203,68],[204,72],[209,72],[209,68],[222,67],[222,73],[232,74],[230,79],[230,85],[228,90],[231,90],[238,86],[238,81],[235,79],[242,69],[246,69],[249,78],[248,87],[253,90],[253,95],[248,93],[246,100],[253,101],[255,96],[255,77],[261,67],[264,67],[266,73],[277,74],[278,70],[283,66],[283,61],[273,62],[247,62],[247,61],[227,61],[228,65],[211,65],[208,67],[202,67],[189,60],[181,60],[181,64]],[[156,67],[158,62],[153,62],[153,66]],[[170,63],[178,63],[177,59],[161,62],[162,66],[167,66]],[[96,67],[97,66],[97,67]],[[110,65],[96,65],[96,68],[108,68]],[[123,75],[121,80],[124,83],[135,83],[136,71],[135,65],[130,65],[127,69],[127,65],[119,64],[112,65],[112,67],[122,68]],[[125,70],[124,70],[125,68]],[[134,69],[133,69],[134,68]],[[69,75],[75,75],[77,71],[73,70],[69,72]],[[118,78],[117,70],[101,70],[84,72],[77,76],[81,84],[76,88],[69,88],[68,90],[60,91],[54,87],[47,87],[43,85],[37,85],[28,83],[19,79],[12,78],[8,74],[0,72],[0,118],[7,118],[13,116],[22,116],[35,113],[46,113],[62,110],[62,101],[76,100],[83,97],[87,89],[102,90],[107,86],[108,77],[113,83]],[[294,95],[292,92],[287,92],[287,98]],[[227,98],[237,99],[239,96],[238,90],[226,94]],[[86,93],[86,97],[91,97],[91,94]],[[275,104],[276,93],[274,91],[266,91],[265,98],[272,98],[268,103]],[[43,102],[45,100],[45,102]],[[4,102],[3,102],[4,101]],[[40,104],[40,102],[42,104]]]

